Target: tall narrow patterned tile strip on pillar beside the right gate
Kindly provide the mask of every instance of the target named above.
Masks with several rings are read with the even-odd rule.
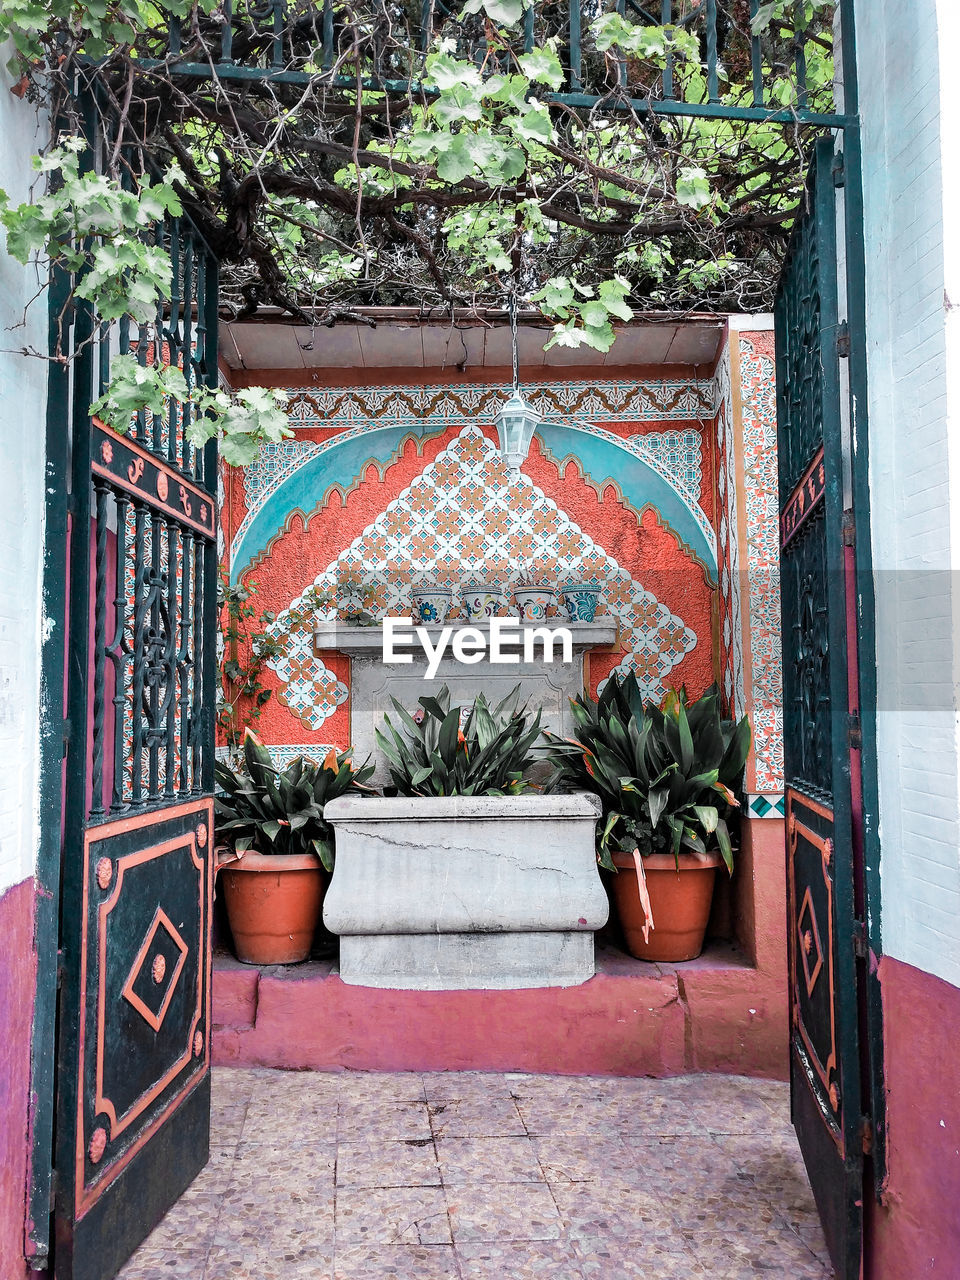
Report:
[[[746,576],[756,791],[783,790],[780,509],[773,334],[740,334]]]

